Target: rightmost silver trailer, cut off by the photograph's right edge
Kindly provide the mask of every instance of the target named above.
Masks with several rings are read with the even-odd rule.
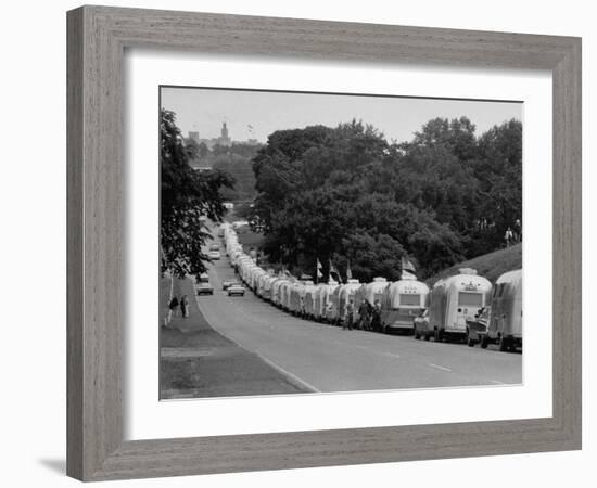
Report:
[[[522,347],[522,270],[501,274],[494,285],[487,332],[481,347],[497,343],[499,350]]]

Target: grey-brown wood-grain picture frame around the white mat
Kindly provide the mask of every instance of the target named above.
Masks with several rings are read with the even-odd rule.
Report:
[[[102,480],[581,448],[581,39],[105,7],[68,12],[67,34],[69,476]],[[124,441],[123,56],[131,47],[550,70],[552,416]]]

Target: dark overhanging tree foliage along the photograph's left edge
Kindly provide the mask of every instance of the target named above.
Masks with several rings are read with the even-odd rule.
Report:
[[[196,146],[186,144],[176,126],[174,112],[161,111],[160,177],[162,270],[175,274],[199,275],[208,257],[202,246],[209,236],[204,219],[219,221],[226,213],[223,189],[232,188],[233,179],[218,170],[196,171],[190,160]]]

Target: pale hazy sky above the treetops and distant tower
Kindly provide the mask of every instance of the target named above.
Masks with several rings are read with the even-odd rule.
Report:
[[[176,113],[185,136],[192,130],[202,139],[218,137],[226,121],[233,141],[255,138],[266,142],[276,130],[317,124],[335,127],[353,118],[373,125],[389,142],[411,140],[412,133],[434,117],[467,116],[477,126],[478,136],[505,120],[522,120],[522,103],[518,102],[204,88],[162,88],[162,106]]]

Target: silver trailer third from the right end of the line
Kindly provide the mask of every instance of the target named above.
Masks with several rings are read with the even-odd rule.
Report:
[[[412,332],[415,318],[427,308],[428,296],[429,286],[411,274],[405,273],[402,280],[391,283],[381,300],[383,331]]]

